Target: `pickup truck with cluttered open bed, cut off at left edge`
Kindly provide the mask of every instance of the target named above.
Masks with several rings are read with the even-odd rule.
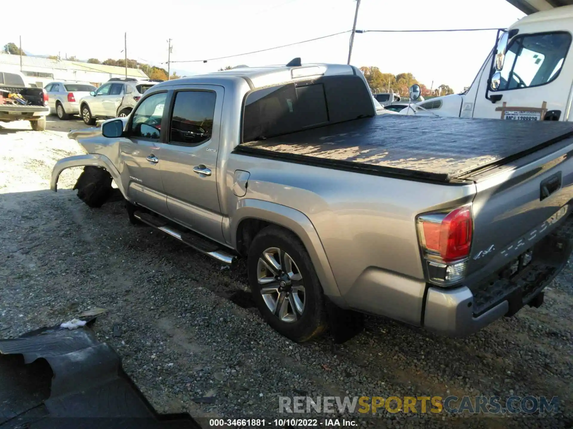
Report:
[[[34,131],[44,131],[46,116],[50,113],[48,93],[44,88],[27,87],[21,73],[0,71],[0,96],[10,99],[10,94],[19,94],[26,104],[0,101],[0,122],[30,121]]]

